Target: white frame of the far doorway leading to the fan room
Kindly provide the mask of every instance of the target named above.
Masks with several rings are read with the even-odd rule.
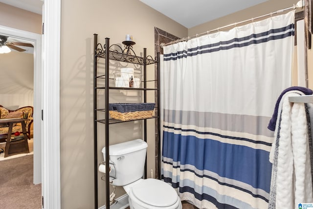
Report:
[[[41,34],[19,30],[0,25],[0,33],[12,38],[19,38],[32,42],[34,46],[34,184],[40,184],[41,178],[41,72],[42,72],[42,47]]]

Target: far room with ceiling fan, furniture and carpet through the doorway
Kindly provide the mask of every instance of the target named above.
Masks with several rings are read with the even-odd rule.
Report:
[[[41,206],[41,185],[33,181],[34,49],[25,40],[5,35],[0,42],[7,46],[0,54],[1,200],[3,205],[36,208]]]

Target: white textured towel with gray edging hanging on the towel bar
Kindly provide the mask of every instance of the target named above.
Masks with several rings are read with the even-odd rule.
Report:
[[[300,93],[301,94],[301,93]],[[294,209],[312,203],[311,161],[304,103],[290,103],[286,93],[279,105],[275,142],[270,154],[272,179],[269,209]]]

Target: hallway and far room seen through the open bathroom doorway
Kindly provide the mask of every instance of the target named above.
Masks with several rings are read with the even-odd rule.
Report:
[[[40,120],[34,119],[41,111],[40,51],[32,37],[40,39],[42,16],[2,2],[0,13],[1,208],[41,208]]]

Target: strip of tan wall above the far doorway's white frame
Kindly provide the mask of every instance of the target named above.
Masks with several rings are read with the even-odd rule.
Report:
[[[0,25],[41,34],[42,16],[0,2]]]

